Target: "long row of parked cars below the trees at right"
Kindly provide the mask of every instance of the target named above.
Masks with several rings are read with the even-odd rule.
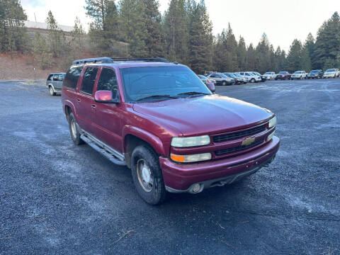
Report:
[[[296,71],[293,74],[289,72],[266,72],[261,75],[259,72],[208,72],[205,75],[198,75],[205,84],[214,83],[216,85],[233,85],[246,84],[247,82],[264,82],[268,80],[287,80],[287,79],[321,79],[321,78],[336,78],[340,76],[339,69],[312,70],[309,73],[305,71]]]

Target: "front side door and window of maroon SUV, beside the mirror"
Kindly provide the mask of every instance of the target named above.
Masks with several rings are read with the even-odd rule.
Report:
[[[98,79],[96,91],[112,91],[113,98],[118,95],[118,83],[115,69],[103,67]],[[118,152],[123,152],[121,136],[121,120],[123,111],[120,104],[94,103],[93,120],[94,136]]]

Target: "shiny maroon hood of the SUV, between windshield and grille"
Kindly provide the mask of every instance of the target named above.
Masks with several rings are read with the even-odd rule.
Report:
[[[133,109],[161,119],[185,136],[246,128],[263,123],[273,115],[259,106],[220,95],[136,103]]]

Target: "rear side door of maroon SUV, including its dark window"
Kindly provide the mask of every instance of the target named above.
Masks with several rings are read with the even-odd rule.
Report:
[[[95,111],[94,84],[98,74],[98,67],[86,67],[77,93],[77,123],[86,132],[92,133],[92,116]]]

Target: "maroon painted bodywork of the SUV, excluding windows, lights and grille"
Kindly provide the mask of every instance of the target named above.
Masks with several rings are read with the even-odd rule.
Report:
[[[278,151],[279,140],[274,137],[270,142],[215,156],[218,149],[241,146],[244,137],[237,140],[214,143],[212,137],[236,130],[247,130],[268,122],[273,113],[251,103],[239,101],[227,96],[211,95],[171,99],[152,103],[126,103],[123,83],[119,70],[128,67],[178,67],[172,63],[123,62],[118,64],[86,64],[86,67],[98,67],[94,91],[103,67],[115,70],[120,103],[98,103],[112,98],[108,91],[93,92],[86,95],[79,91],[84,69],[77,84],[77,89],[62,88],[63,108],[69,106],[81,128],[90,132],[99,140],[106,142],[118,152],[124,153],[126,137],[133,135],[149,143],[159,154],[166,186],[186,189],[192,183],[220,178],[246,171],[254,162],[228,168],[235,162],[251,161],[264,155],[260,161],[273,157]],[[96,98],[96,101],[95,101]],[[79,101],[80,100],[80,101]],[[252,135],[255,140],[266,141],[272,130]],[[193,148],[171,147],[171,138],[179,136],[210,135],[210,145]],[[196,164],[176,164],[169,159],[169,154],[212,153],[212,160]]]

